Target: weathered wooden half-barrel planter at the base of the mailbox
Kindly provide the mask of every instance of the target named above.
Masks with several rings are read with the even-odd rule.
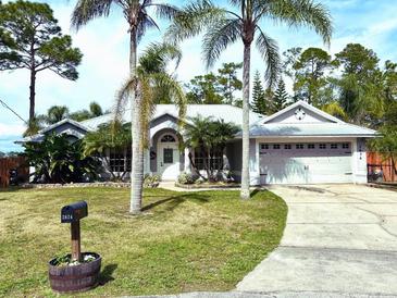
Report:
[[[59,293],[84,291],[98,285],[102,258],[95,252],[85,252],[82,256],[94,256],[91,262],[79,263],[77,265],[57,265],[57,260],[52,259],[48,264],[48,272],[51,288]]]

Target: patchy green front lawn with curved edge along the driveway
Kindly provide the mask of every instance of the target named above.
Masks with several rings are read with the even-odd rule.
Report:
[[[269,191],[145,191],[145,212],[128,214],[128,189],[0,191],[0,296],[54,297],[47,262],[69,252],[62,206],[88,202],[84,251],[103,258],[101,285],[80,296],[228,290],[280,243],[287,207]],[[75,297],[75,296],[73,296]]]

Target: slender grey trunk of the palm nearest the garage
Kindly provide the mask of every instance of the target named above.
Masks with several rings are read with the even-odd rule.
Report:
[[[249,199],[249,75],[251,63],[251,46],[244,45],[243,66],[243,166],[241,199]]]

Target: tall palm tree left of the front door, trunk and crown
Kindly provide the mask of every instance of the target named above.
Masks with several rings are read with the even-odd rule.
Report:
[[[72,25],[78,29],[89,21],[108,16],[113,5],[122,9],[128,24],[129,33],[129,75],[136,82],[137,76],[137,47],[147,29],[159,28],[149,11],[162,18],[171,20],[177,13],[177,9],[165,3],[153,3],[152,0],[78,0],[72,15]],[[131,212],[140,212],[144,184],[144,149],[141,144],[141,98],[136,96],[137,86],[131,86],[132,107],[132,187],[131,187]]]

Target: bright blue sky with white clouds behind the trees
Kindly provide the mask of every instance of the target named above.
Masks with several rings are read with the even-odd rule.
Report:
[[[8,2],[8,1],[3,1]],[[52,72],[42,72],[37,79],[37,113],[44,113],[53,104],[65,104],[71,111],[87,108],[90,101],[98,101],[104,109],[111,108],[114,94],[127,76],[128,36],[125,21],[117,9],[110,17],[96,20],[78,33],[70,29],[70,16],[75,1],[42,0],[51,4],[63,33],[73,37],[74,46],[84,53],[78,67],[79,79],[69,82]],[[187,1],[171,1],[181,5]],[[214,1],[228,5],[226,1]],[[291,29],[284,25],[265,22],[262,28],[278,41],[280,51],[291,47],[321,47],[331,53],[340,51],[349,42],[360,42],[373,49],[382,61],[397,61],[397,0],[323,0],[331,11],[334,36],[330,48],[324,48],[321,39],[309,29]],[[160,22],[164,30],[165,23]],[[159,41],[162,32],[149,32],[139,49]],[[188,82],[207,70],[201,61],[200,38],[182,45],[184,58],[177,70],[178,79]],[[241,61],[241,46],[232,46],[221,57],[223,62]],[[252,70],[264,70],[259,54],[253,51]],[[253,73],[253,72],[252,72]],[[0,72],[0,98],[15,109],[23,117],[28,115],[28,72]],[[24,123],[0,105],[0,151],[21,150],[13,144],[21,138]]]

